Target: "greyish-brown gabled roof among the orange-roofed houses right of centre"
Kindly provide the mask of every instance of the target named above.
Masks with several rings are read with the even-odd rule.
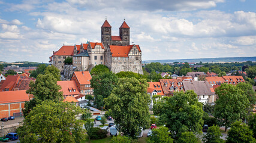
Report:
[[[206,81],[184,81],[185,91],[193,90],[197,95],[214,95],[212,86]],[[211,89],[212,88],[212,89]]]

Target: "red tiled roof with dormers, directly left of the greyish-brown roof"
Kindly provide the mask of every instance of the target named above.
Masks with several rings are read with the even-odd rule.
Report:
[[[162,86],[162,91],[164,91],[165,95],[171,95],[176,90],[184,91],[182,79],[160,79],[159,81]],[[171,87],[173,87],[172,91],[170,91]]]

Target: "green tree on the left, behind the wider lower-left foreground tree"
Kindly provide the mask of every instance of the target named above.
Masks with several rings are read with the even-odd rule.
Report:
[[[25,102],[25,108],[22,110],[24,116],[27,116],[33,107],[45,100],[62,101],[63,95],[59,92],[60,89],[61,86],[57,85],[57,80],[52,74],[39,74],[35,82],[29,83],[29,89],[26,91],[27,94],[34,95],[34,98]]]

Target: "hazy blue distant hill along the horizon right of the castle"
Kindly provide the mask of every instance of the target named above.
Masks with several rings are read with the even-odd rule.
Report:
[[[256,57],[228,57],[228,58],[191,58],[191,59],[178,59],[178,60],[146,60],[142,63],[174,63],[174,62],[188,62],[188,63],[231,63],[231,62],[256,62]]]

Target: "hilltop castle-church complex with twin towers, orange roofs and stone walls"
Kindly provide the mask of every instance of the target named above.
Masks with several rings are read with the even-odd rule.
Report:
[[[98,64],[106,65],[113,73],[132,71],[143,74],[141,49],[139,45],[129,44],[129,29],[124,21],[119,27],[119,36],[112,36],[112,26],[106,19],[101,26],[101,42],[63,45],[58,51],[53,51],[49,65],[56,66],[67,78],[73,71],[91,71]],[[67,57],[73,58],[72,65],[65,65]]]

